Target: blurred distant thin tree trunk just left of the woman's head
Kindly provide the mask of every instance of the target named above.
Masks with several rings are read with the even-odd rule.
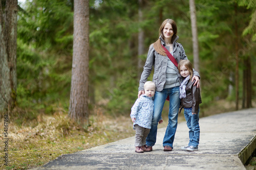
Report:
[[[144,54],[144,31],[141,28],[141,22],[143,21],[143,13],[142,13],[142,0],[139,0],[139,34],[138,34],[138,80],[140,80],[141,70],[143,67],[141,55]]]

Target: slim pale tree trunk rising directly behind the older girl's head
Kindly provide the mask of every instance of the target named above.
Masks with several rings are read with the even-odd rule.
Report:
[[[199,71],[199,47],[198,47],[198,35],[197,35],[197,16],[196,16],[196,6],[195,0],[189,0],[190,9],[190,20],[192,29],[192,40],[193,40],[193,56],[194,56],[194,68]]]

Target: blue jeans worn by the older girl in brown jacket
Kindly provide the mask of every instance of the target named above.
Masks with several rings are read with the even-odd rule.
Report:
[[[197,114],[192,114],[191,108],[184,108],[184,117],[187,122],[189,129],[189,146],[198,148],[200,138],[200,127],[199,127],[199,110]]]

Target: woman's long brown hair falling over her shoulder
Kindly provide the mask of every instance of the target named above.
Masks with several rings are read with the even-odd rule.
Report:
[[[174,35],[172,36],[172,43],[174,42],[174,39],[176,38],[176,34],[177,34],[177,25],[176,25],[176,22],[173,20],[173,19],[165,19],[163,22],[162,22],[162,25],[161,27],[159,28],[159,37],[161,36],[163,38],[163,29],[164,29],[164,26],[166,25],[166,23],[169,23],[170,25],[172,25],[173,27],[173,32],[174,32]],[[161,45],[161,40],[158,39],[156,42],[154,42],[154,48],[155,50],[157,51],[157,53],[165,56],[166,53]]]

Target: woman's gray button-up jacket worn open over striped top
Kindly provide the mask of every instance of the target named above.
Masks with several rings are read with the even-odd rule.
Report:
[[[167,48],[169,51],[169,47],[166,46],[164,40],[159,37],[161,40],[161,43],[163,46]],[[176,35],[176,38],[173,42],[173,56],[176,59],[176,61],[179,63],[180,60],[187,60],[187,56],[185,54],[183,46],[176,42],[179,39],[179,37]],[[150,45],[150,50],[148,50],[147,58],[145,65],[143,67],[143,72],[140,77],[140,85],[139,85],[139,91],[144,90],[144,83],[147,81],[148,76],[150,76],[152,68],[154,66],[154,75],[153,75],[153,82],[156,84],[156,91],[162,91],[163,86],[166,82],[166,68],[167,68],[167,61],[168,57],[162,56],[159,53],[156,52],[154,45]],[[177,81],[180,83],[182,82],[182,77],[179,73],[178,68],[176,68],[177,72]],[[199,76],[198,72],[194,70],[194,76]]]

